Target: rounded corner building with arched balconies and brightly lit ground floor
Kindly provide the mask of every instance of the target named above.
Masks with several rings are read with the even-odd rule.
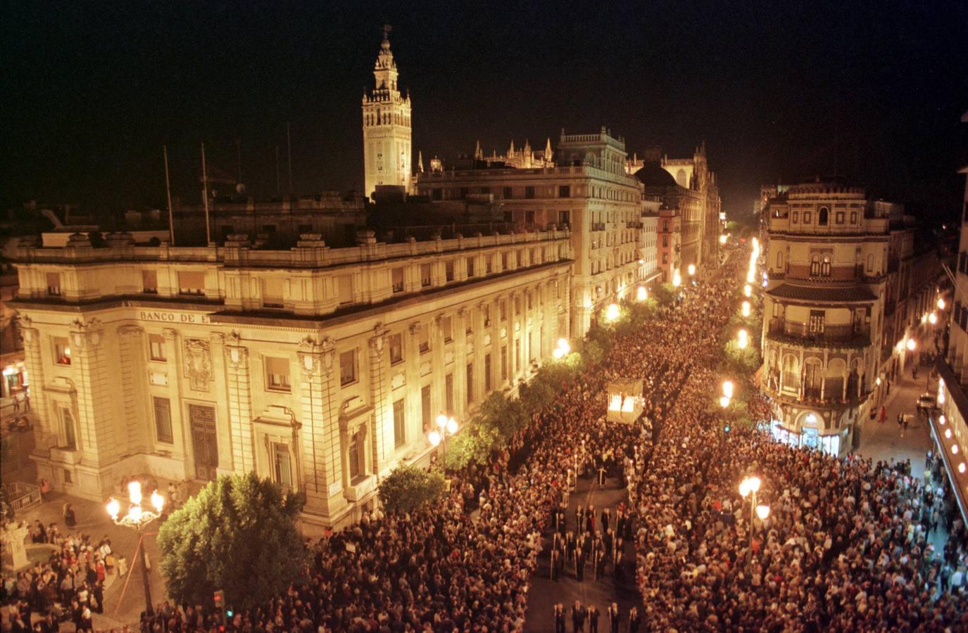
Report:
[[[761,381],[773,433],[846,453],[877,380],[889,218],[868,210],[862,188],[832,183],[789,187],[766,216]]]

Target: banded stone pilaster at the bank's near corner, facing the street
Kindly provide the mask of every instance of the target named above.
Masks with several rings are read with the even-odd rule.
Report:
[[[346,504],[343,453],[340,446],[339,403],[336,402],[332,339],[311,336],[299,343],[299,392],[302,412],[302,459],[307,511],[331,514]]]

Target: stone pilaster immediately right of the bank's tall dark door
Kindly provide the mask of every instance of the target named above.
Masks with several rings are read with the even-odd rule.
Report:
[[[235,331],[226,337],[225,358],[232,471],[238,474],[249,473],[256,470],[251,365],[249,348],[241,344],[241,338]]]

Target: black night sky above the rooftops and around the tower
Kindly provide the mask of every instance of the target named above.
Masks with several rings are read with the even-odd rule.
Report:
[[[380,28],[413,101],[413,147],[535,149],[560,129],[691,156],[724,209],[762,183],[838,173],[872,195],[956,209],[968,158],[968,3],[84,2],[0,19],[0,202],[98,212],[198,199],[209,164],[276,193],[362,188],[360,97]],[[415,161],[415,158],[414,158]]]

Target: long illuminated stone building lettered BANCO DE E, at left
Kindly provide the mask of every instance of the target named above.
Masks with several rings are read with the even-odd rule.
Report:
[[[255,472],[338,525],[379,477],[424,459],[439,413],[467,419],[566,335],[566,230],[287,250],[18,249],[38,417],[55,489],[103,500],[125,475]]]

